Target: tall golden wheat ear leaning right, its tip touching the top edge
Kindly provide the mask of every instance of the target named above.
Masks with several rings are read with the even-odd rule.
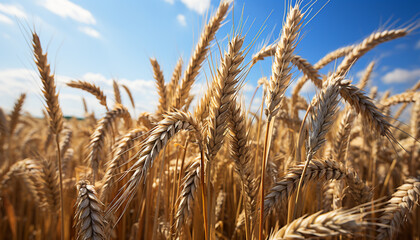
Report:
[[[204,31],[201,34],[200,40],[191,56],[190,62],[185,70],[184,76],[178,85],[174,106],[178,109],[184,106],[185,100],[188,98],[192,84],[198,75],[201,64],[207,56],[209,51],[210,43],[214,39],[217,30],[220,28],[223,19],[225,19],[226,13],[229,9],[229,1],[221,1],[219,8],[215,15],[210,19],[207,25],[204,27]]]

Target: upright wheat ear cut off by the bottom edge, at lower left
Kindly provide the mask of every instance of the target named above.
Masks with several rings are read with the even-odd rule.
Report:
[[[94,186],[90,185],[88,181],[81,180],[77,184],[77,190],[76,213],[74,215],[78,228],[77,239],[107,239],[102,203],[96,196]]]

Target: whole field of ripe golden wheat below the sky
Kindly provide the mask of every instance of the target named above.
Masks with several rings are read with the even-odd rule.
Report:
[[[230,8],[220,3],[185,70],[180,59],[168,83],[150,59],[159,104],[139,116],[121,102],[123,87],[135,108],[125,85],[114,81],[111,107],[100,87],[71,81],[106,114],[95,119],[85,105],[83,120],[64,119],[47,54],[32,33],[46,111],[44,118],[22,114],[25,94],[10,114],[0,109],[1,239],[419,236],[420,82],[378,99],[376,88],[363,90],[374,62],[357,84],[346,76],[366,52],[414,27],[374,32],[311,64],[295,53],[306,11],[290,5],[279,40],[248,63],[251,45],[241,31],[228,36],[190,113],[190,90]],[[258,81],[263,104],[251,112],[240,89],[267,57],[272,74]],[[335,70],[321,74],[330,62]],[[317,88],[310,102],[299,95],[308,80]],[[401,124],[410,104],[411,121]],[[401,106],[391,115],[394,105]]]

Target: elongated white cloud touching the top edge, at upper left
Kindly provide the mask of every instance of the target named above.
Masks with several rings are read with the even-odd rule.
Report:
[[[68,17],[86,24],[96,24],[96,20],[91,12],[69,0],[43,0],[40,4],[60,17]]]

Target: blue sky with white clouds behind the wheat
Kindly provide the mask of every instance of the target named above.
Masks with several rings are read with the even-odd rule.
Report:
[[[170,79],[180,56],[187,64],[205,19],[218,3],[216,0],[1,0],[0,106],[9,111],[19,94],[26,92],[24,110],[34,115],[41,113],[40,81],[30,48],[30,30],[35,28],[57,75],[65,115],[83,115],[81,96],[87,99],[91,110],[103,113],[92,96],[63,84],[71,79],[95,82],[112,102],[111,81],[115,78],[132,90],[137,113],[154,111],[157,94],[149,58],[155,57],[165,79]],[[420,1],[332,0],[326,3],[322,0],[314,3],[296,48],[296,53],[311,63],[332,50],[360,42],[377,29],[419,22]],[[250,58],[264,42],[273,43],[278,38],[285,3],[235,0],[234,6],[217,34],[217,42],[222,48],[226,46],[225,36],[232,32],[232,23],[238,24],[243,9],[243,16],[248,19],[244,24],[248,34],[246,44],[264,27],[252,46]],[[419,33],[420,30],[416,30],[405,38],[375,48],[354,65],[349,77],[358,81],[361,71],[375,60],[373,85],[377,85],[380,92],[392,89],[392,93],[398,93],[414,85],[420,80]],[[213,53],[217,55],[217,52],[215,46]],[[322,72],[333,67],[330,64]],[[204,69],[208,73],[207,63]],[[256,81],[270,74],[270,59],[254,66],[246,79],[246,100],[255,89]],[[197,97],[204,89],[206,76],[208,74],[200,74],[193,88]],[[308,84],[302,95],[309,98],[313,92],[313,86]],[[123,97],[123,102],[129,105],[124,93]]]

